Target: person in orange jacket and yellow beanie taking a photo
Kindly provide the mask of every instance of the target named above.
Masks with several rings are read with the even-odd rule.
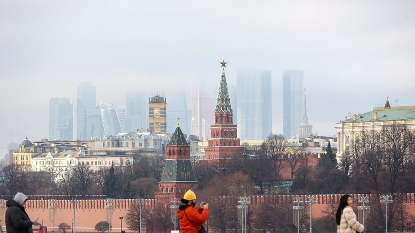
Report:
[[[196,209],[196,194],[190,189],[181,201],[183,204],[177,209],[181,233],[199,233],[202,228],[204,229],[202,223],[209,216],[209,203],[202,201]]]

